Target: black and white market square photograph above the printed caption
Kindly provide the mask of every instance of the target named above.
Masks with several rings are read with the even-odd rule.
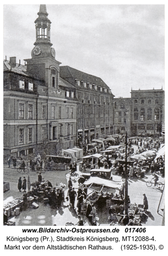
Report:
[[[164,48],[163,4],[3,5],[3,225],[165,226]]]

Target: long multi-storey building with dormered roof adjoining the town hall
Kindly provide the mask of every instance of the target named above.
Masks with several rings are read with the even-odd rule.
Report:
[[[60,67],[60,76],[76,87],[78,143],[113,134],[114,95],[104,81],[68,66]]]

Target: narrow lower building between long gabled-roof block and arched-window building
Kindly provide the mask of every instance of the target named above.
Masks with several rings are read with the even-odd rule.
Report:
[[[131,98],[114,98],[115,109],[115,134],[131,135]]]

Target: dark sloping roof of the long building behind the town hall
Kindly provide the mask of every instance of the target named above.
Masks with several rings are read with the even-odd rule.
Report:
[[[90,74],[76,70],[69,66],[60,66],[60,76],[64,79],[67,79],[67,78],[78,79],[79,81],[96,84],[97,86],[101,86],[103,88],[109,89],[109,87],[104,83],[104,81],[100,77],[92,76]]]

